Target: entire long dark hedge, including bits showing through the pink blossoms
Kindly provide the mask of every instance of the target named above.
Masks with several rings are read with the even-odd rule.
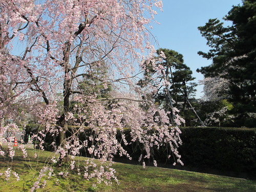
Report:
[[[73,127],[74,128],[74,127]],[[28,125],[26,133],[36,132],[38,125]],[[247,128],[224,128],[224,127],[182,127],[182,134],[180,135],[183,144],[178,151],[181,155],[181,160],[184,167],[178,166],[181,169],[196,170],[198,172],[211,173],[212,170],[219,170],[224,175],[225,173],[232,173],[231,176],[241,177],[241,173],[252,179],[256,178],[256,129]],[[129,136],[130,130],[124,132],[127,135],[126,140],[130,145],[124,146],[124,149],[133,158],[133,163],[138,163],[138,159],[144,152],[141,151],[141,143],[131,142]],[[27,134],[25,141],[27,140]],[[86,130],[79,138],[81,141],[91,135],[91,130]],[[70,133],[67,133],[70,136]],[[45,140],[45,149],[53,150],[50,146],[52,137],[49,135]],[[118,133],[117,139],[121,140],[121,134]],[[174,159],[167,159],[167,152],[170,149],[165,145],[161,146],[159,150],[153,149],[154,156],[146,164],[152,164],[152,160],[157,160],[161,166],[172,167]],[[83,153],[86,155],[88,153]],[[124,157],[116,156],[115,160],[125,161]],[[196,169],[195,169],[196,168]]]

